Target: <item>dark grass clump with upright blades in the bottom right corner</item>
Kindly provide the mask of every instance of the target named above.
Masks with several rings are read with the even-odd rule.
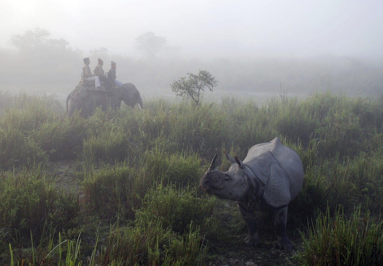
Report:
[[[347,219],[339,209],[335,217],[330,209],[319,214],[308,233],[300,232],[302,249],[293,256],[302,265],[382,265],[383,228],[360,206]]]

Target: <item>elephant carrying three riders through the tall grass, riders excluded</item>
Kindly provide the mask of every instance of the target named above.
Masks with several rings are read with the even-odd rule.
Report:
[[[98,106],[101,106],[104,111],[109,106],[112,110],[116,110],[121,107],[121,101],[133,108],[137,104],[142,110],[141,95],[132,83],[125,83],[123,87],[115,88],[112,91],[86,90],[85,97],[81,95],[80,90],[75,89],[67,96],[67,116],[72,116],[76,109],[81,110],[82,116],[90,116]]]

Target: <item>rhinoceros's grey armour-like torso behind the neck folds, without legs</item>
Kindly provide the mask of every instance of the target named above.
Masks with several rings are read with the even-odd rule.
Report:
[[[278,137],[254,145],[243,163],[265,183],[262,200],[273,209],[287,206],[302,188],[302,161],[294,150],[282,145]]]

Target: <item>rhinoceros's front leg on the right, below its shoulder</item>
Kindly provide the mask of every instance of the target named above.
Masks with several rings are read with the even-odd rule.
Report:
[[[293,245],[286,234],[287,206],[273,211],[274,230],[278,238],[278,248],[280,250],[291,250]]]

